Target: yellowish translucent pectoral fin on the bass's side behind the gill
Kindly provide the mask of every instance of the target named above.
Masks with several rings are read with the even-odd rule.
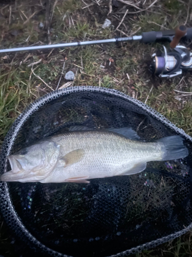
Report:
[[[80,161],[83,156],[84,156],[84,150],[77,149],[61,157],[60,160],[64,161],[64,167],[66,167]]]

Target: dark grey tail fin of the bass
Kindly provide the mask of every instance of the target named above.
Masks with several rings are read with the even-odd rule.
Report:
[[[158,143],[163,143],[162,160],[175,160],[184,158],[188,155],[188,150],[183,144],[183,138],[180,136],[164,137],[157,140]]]

